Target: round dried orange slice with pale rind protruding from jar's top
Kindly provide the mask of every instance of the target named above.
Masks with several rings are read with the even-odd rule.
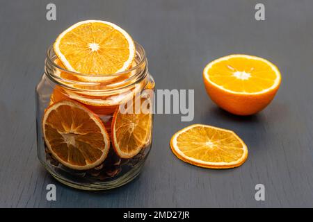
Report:
[[[135,44],[130,35],[110,22],[87,20],[67,28],[54,42],[54,51],[67,70],[88,74],[83,80],[101,81],[95,74],[115,74],[131,67]]]

